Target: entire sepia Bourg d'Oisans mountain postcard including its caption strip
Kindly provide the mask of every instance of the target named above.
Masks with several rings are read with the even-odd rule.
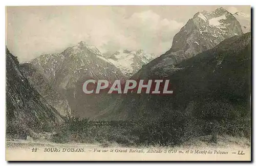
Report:
[[[251,6],[6,6],[7,161],[251,161]]]

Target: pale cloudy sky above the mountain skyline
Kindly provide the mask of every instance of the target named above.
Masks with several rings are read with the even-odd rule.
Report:
[[[20,62],[57,53],[85,41],[101,52],[118,49],[161,55],[198,11],[219,6],[38,6],[7,7],[9,50]],[[222,6],[250,14],[249,6]]]

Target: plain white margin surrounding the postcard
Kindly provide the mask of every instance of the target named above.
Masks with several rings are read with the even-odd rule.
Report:
[[[44,0],[44,1],[27,1],[27,0],[23,0],[23,1],[1,1],[1,12],[0,12],[0,18],[1,18],[1,33],[0,33],[0,48],[1,48],[1,55],[0,55],[0,76],[1,76],[1,81],[0,81],[0,87],[1,87],[1,99],[0,99],[0,103],[1,103],[1,165],[7,165],[8,163],[5,161],[5,6],[38,6],[38,5],[44,5],[44,6],[49,6],[49,5],[251,5],[252,7],[255,7],[254,5],[255,1],[249,0],[249,1],[223,1],[223,0],[215,0],[215,1],[199,1],[199,0],[193,0],[193,1],[164,1],[164,0],[157,0],[157,1],[151,1],[151,0],[147,0],[147,1],[138,1],[138,0],[125,0],[125,1],[113,1],[113,0],[109,0],[109,1],[99,1],[99,0],[93,0],[93,1],[78,1],[78,0],[72,0],[72,1],[53,1],[53,0]],[[254,19],[253,19],[254,22]],[[254,27],[253,27],[253,32],[254,32]],[[252,37],[253,40],[253,37]],[[255,42],[253,41],[253,48],[255,48]],[[254,57],[254,54],[252,55]],[[256,65],[256,58],[253,58],[253,73],[255,73],[255,65]],[[254,81],[253,81],[254,83]],[[253,89],[253,94],[255,92],[255,89]],[[256,98],[254,96],[253,98],[253,103],[256,103]],[[255,106],[255,105],[254,105]],[[253,114],[252,119],[255,119],[255,113]],[[255,129],[255,122],[253,123],[253,129]],[[254,137],[255,137],[255,133]],[[253,139],[254,142],[254,139]],[[254,142],[255,143],[255,142]],[[254,145],[254,144],[253,144]],[[255,154],[255,153],[253,153]],[[255,159],[255,155],[253,155],[253,158]],[[14,163],[17,164],[17,163]],[[27,163],[19,163],[19,164],[27,164]],[[30,164],[36,164],[36,163],[30,163]],[[47,165],[53,165],[54,163],[41,163],[41,164],[47,164]],[[63,164],[63,163],[59,163],[59,164]],[[92,164],[92,163],[82,163],[82,164]],[[96,163],[96,164],[100,164],[100,163]],[[111,163],[109,163],[111,164]],[[119,163],[118,163],[119,164]],[[141,164],[141,163],[130,163],[133,165],[137,165],[137,164]],[[144,164],[148,164],[148,163],[144,163]],[[158,163],[154,163],[154,164],[158,164]],[[166,164],[187,164],[187,163],[166,163]],[[189,163],[191,164],[191,163]],[[194,163],[194,164],[205,164],[205,162],[202,163]],[[224,165],[224,163],[215,163],[218,165]],[[233,163],[225,163],[225,164],[233,164]],[[241,163],[238,163],[241,164]],[[72,165],[72,163],[68,163],[67,165]]]

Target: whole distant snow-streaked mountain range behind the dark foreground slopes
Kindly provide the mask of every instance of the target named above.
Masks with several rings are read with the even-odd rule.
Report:
[[[243,29],[236,19],[237,15],[223,8],[196,13],[174,36],[170,49],[158,58],[143,50],[127,49],[104,56],[96,47],[81,41],[60,53],[42,55],[23,63],[20,69],[31,86],[63,116],[108,120],[140,117],[138,114],[144,109],[157,109],[151,104],[147,106],[148,102],[155,102],[157,106],[157,103],[162,103],[162,99],[151,100],[143,95],[86,95],[82,92],[83,82],[87,79],[106,79],[109,82],[120,79],[124,82],[127,78],[170,77],[176,72],[179,73],[178,71],[183,71],[184,66],[178,64],[190,59],[195,60],[194,57],[200,57],[202,52],[218,50],[213,48],[226,39],[241,37]],[[193,82],[191,84],[194,85]],[[168,101],[170,98],[163,100]]]

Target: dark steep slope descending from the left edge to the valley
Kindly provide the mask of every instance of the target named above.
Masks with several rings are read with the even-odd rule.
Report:
[[[33,89],[20,71],[19,63],[6,49],[7,134],[27,135],[54,131],[63,122],[60,114]]]

